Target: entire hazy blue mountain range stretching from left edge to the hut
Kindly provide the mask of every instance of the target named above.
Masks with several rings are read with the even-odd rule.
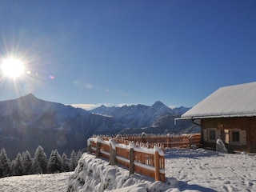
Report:
[[[0,149],[5,148],[10,158],[26,150],[33,155],[39,145],[47,155],[54,149],[70,154],[86,148],[86,140],[92,134],[178,134],[193,125],[174,124],[174,118],[189,109],[170,109],[158,101],[152,106],[99,106],[83,110],[27,94],[0,102]]]

